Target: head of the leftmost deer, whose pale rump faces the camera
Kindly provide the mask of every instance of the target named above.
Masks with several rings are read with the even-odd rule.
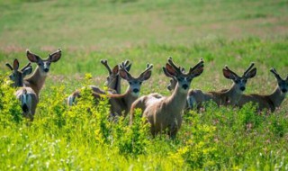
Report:
[[[23,86],[23,78],[32,72],[31,63],[18,70],[19,61],[17,58],[14,59],[13,67],[9,63],[6,63],[6,66],[12,70],[12,74],[9,77],[14,82],[14,87]]]

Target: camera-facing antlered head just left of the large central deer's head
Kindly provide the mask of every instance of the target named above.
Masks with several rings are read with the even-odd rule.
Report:
[[[138,77],[133,77],[130,75],[129,71],[126,70],[125,63],[122,62],[119,70],[119,75],[121,76],[121,78],[128,81],[130,85],[129,91],[133,96],[139,96],[141,84],[143,81],[146,81],[148,80],[148,78],[150,78],[152,74],[152,67],[152,64],[147,64],[146,69]]]

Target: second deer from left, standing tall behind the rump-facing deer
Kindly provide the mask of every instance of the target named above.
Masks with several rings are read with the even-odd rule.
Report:
[[[49,54],[46,59],[40,58],[40,56],[32,53],[29,49],[26,50],[26,56],[32,63],[36,63],[37,67],[30,77],[23,80],[23,84],[27,87],[31,87],[39,98],[40,90],[49,73],[50,64],[52,62],[57,62],[58,59],[61,58],[61,49]]]

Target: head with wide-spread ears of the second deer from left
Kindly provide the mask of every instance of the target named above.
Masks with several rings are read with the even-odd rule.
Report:
[[[32,53],[29,49],[26,50],[27,58],[38,65],[40,68],[40,73],[47,74],[49,72],[49,67],[51,62],[57,62],[61,58],[61,49],[58,49],[52,54],[49,54],[48,58],[42,59],[38,55]]]

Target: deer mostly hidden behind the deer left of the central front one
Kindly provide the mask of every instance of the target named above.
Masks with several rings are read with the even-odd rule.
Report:
[[[106,67],[108,71],[108,76],[106,77],[105,82],[105,85],[108,87],[108,93],[121,94],[121,76],[119,76],[119,65],[116,65],[112,68],[109,66],[106,59],[102,59],[100,62],[101,64],[103,64],[104,67]],[[131,64],[129,60],[124,61],[123,65],[125,66],[126,70],[130,71]],[[105,91],[100,89],[98,86],[89,85],[89,87],[94,93],[105,94]],[[80,92],[81,90],[76,90],[75,92],[70,94],[67,98],[67,105],[72,106],[74,103],[76,103],[76,98],[81,96]]]

